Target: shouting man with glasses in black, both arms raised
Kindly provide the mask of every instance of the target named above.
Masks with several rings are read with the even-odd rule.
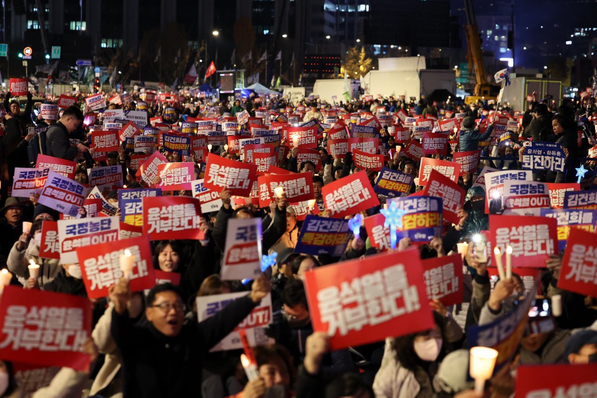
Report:
[[[110,288],[114,303],[110,327],[122,357],[125,397],[190,397],[201,384],[202,359],[269,294],[265,277],[251,292],[202,322],[184,322],[185,306],[177,286],[166,283],[147,294],[146,325],[133,324],[127,304],[131,289],[126,278]]]

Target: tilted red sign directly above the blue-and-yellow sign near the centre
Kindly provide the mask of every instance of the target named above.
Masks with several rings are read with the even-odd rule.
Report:
[[[364,170],[347,175],[321,190],[325,208],[332,217],[344,217],[379,205],[377,195]]]

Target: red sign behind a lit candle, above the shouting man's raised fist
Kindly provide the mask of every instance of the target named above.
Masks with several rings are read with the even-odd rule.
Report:
[[[131,291],[138,292],[155,286],[149,239],[146,236],[134,237],[76,250],[87,297],[107,297],[108,288],[125,276],[121,270],[121,255],[125,250],[130,251],[134,258],[129,275]]]

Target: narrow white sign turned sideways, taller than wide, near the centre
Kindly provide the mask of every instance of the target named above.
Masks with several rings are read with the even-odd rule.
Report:
[[[229,218],[222,280],[253,279],[261,273],[261,219]]]

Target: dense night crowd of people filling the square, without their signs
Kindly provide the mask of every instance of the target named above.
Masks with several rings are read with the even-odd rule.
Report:
[[[106,98],[115,93],[107,93]],[[43,119],[33,104],[32,95],[26,100],[4,95],[0,161],[2,163],[2,195],[0,210],[0,266],[13,274],[12,285],[24,289],[87,297],[78,263],[64,264],[59,260],[40,257],[41,229],[44,221],[57,221],[61,214],[38,202],[39,195],[14,198],[10,195],[15,168],[35,167],[31,159],[34,147],[44,155],[76,162],[74,180],[88,186],[88,169],[99,166],[122,166],[124,187],[146,188],[159,183],[144,181],[131,166],[131,149],[122,144],[118,151],[107,153],[106,161],[94,160],[91,131],[102,125],[103,109],[91,111],[85,106],[84,95],[72,106],[61,109],[57,120]],[[485,212],[484,186],[475,184],[484,166],[499,170],[522,169],[525,142],[541,141],[561,144],[566,154],[563,172],[533,172],[534,181],[547,183],[576,182],[576,168],[583,165],[589,174],[580,179],[583,190],[594,189],[597,159],[589,156],[595,145],[597,109],[590,97],[541,100],[534,93],[527,109],[513,110],[508,104],[489,104],[479,101],[466,105],[450,98],[448,101],[418,102],[397,98],[377,98],[373,101],[353,100],[329,104],[318,98],[305,98],[300,103],[289,103],[287,98],[264,97],[251,94],[248,98],[214,100],[199,98],[189,92],[173,94],[174,100],[146,101],[143,93],[134,93],[123,104],[110,103],[106,109],[146,110],[149,118],[161,117],[168,129],[180,130],[180,125],[191,120],[213,120],[214,125],[226,117],[237,117],[245,110],[261,125],[271,129],[272,121],[280,115],[296,116],[296,124],[315,119],[319,125],[333,124],[331,129],[367,121],[374,116],[397,115],[401,110],[414,118],[430,118],[434,130],[437,121],[458,118],[459,128],[450,131],[446,140],[447,155],[426,155],[435,159],[451,159],[454,152],[482,149],[478,169],[463,173],[458,186],[466,190],[466,202],[458,208],[458,223],[444,225],[442,235],[429,242],[412,242],[408,237],[399,240],[396,249],[405,251],[416,246],[421,258],[443,257],[457,252],[457,243],[472,242],[473,235],[488,229],[489,216]],[[58,98],[49,98],[56,103]],[[22,102],[21,102],[22,101]],[[23,102],[25,103],[24,109]],[[140,107],[141,104],[141,107]],[[93,125],[84,124],[85,117],[97,113]],[[261,116],[266,115],[266,116]],[[451,115],[448,118],[448,115]],[[494,138],[492,132],[498,117],[509,117],[517,122],[515,131],[507,139]],[[219,119],[221,118],[221,119]],[[489,122],[484,121],[487,118]],[[334,119],[333,123],[330,119]],[[356,120],[354,120],[356,119]],[[288,117],[287,117],[288,120]],[[290,122],[290,121],[289,121]],[[328,123],[330,122],[330,123]],[[293,122],[290,122],[293,123]],[[484,128],[481,128],[486,124]],[[39,130],[44,126],[44,140]],[[393,118],[391,126],[399,126]],[[239,127],[249,132],[248,123]],[[322,189],[327,184],[361,171],[353,162],[353,153],[330,155],[327,131],[318,135],[321,168],[315,162],[297,161],[298,146],[290,148],[283,138],[276,143],[288,146],[288,155],[279,159],[278,167],[290,172],[312,174],[316,207],[321,217],[330,217]],[[384,166],[410,175],[411,186],[407,195],[417,195],[423,188],[418,185],[421,161],[404,155],[407,141],[396,140],[388,126],[377,129],[380,146],[391,154]],[[579,131],[581,135],[579,135]],[[274,134],[275,132],[272,132]],[[482,146],[484,141],[491,141]],[[181,162],[183,155],[167,152],[160,146],[168,162]],[[389,152],[388,152],[389,151]],[[241,162],[238,153],[229,146],[210,146],[210,152]],[[423,156],[424,157],[424,156]],[[190,161],[199,163],[195,177],[201,178],[204,169],[194,154]],[[186,159],[188,161],[189,159]],[[202,162],[205,159],[201,159]],[[365,169],[370,181],[378,171]],[[374,182],[373,182],[374,183]],[[473,184],[475,186],[473,186]],[[118,189],[104,189],[104,199],[118,206]],[[191,196],[189,190],[164,192],[163,195]],[[35,397],[399,397],[426,398],[433,396],[481,397],[473,390],[474,382],[467,375],[469,345],[467,328],[491,323],[509,313],[525,295],[521,277],[496,280],[488,273],[488,258],[472,251],[464,255],[464,275],[461,283],[464,302],[444,306],[439,300],[429,300],[435,328],[414,334],[396,336],[387,330],[387,339],[358,347],[330,350],[330,336],[325,331],[314,331],[305,289],[305,274],[319,267],[342,261],[381,255],[371,244],[364,228],[347,243],[341,257],[310,255],[296,252],[303,221],[297,220],[297,211],[284,194],[272,199],[271,205],[259,206],[259,200],[247,200],[238,205],[231,193],[219,193],[218,211],[203,214],[205,239],[152,241],[153,266],[156,270],[180,274],[179,285],[164,283],[149,291],[131,291],[126,278],[109,289],[109,296],[93,299],[93,334],[85,352],[93,360],[90,372],[62,368],[50,384],[33,393]],[[383,209],[382,205],[362,212],[370,217]],[[313,209],[315,210],[315,209]],[[310,211],[310,214],[313,213]],[[122,211],[122,209],[119,209]],[[84,208],[79,211],[86,216]],[[119,215],[119,212],[117,213]],[[260,218],[263,225],[261,250],[276,254],[275,264],[251,281],[223,280],[221,263],[226,248],[228,221],[235,218]],[[30,232],[23,232],[23,222],[30,222]],[[423,243],[423,244],[421,244]],[[562,267],[562,255],[550,255],[541,268],[541,299],[553,295],[562,297],[562,315],[553,316],[552,327],[537,331],[525,329],[516,355],[500,372],[487,382],[485,394],[509,397],[514,391],[516,369],[524,365],[547,365],[597,362],[597,302],[595,298],[557,288]],[[27,264],[34,260],[40,265],[39,276],[29,275]],[[383,259],[381,259],[383,261]],[[214,316],[198,322],[195,300],[231,292],[246,292],[231,301]],[[270,295],[272,322],[266,329],[271,344],[253,347],[258,377],[249,380],[241,364],[242,350],[210,351],[220,340],[235,331],[262,299]],[[528,322],[531,324],[532,319]],[[21,396],[21,385],[15,378],[13,364],[0,362],[0,395]],[[541,377],[541,375],[537,375]]]

